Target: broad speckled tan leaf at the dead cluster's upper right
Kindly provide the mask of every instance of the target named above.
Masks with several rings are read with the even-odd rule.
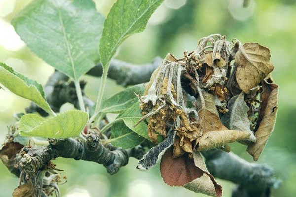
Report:
[[[239,46],[235,55],[236,81],[239,87],[249,93],[273,70],[270,50],[258,43],[248,42]]]

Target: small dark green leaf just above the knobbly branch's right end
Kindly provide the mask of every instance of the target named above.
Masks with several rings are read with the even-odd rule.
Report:
[[[133,148],[144,141],[144,138],[129,129],[123,121],[118,121],[111,127],[111,144],[124,149]]]

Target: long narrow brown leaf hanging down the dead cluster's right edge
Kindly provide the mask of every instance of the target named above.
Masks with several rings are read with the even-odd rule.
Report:
[[[276,84],[263,83],[261,93],[260,114],[258,117],[255,137],[256,143],[250,143],[247,152],[257,161],[263,151],[271,132],[274,129],[277,112],[278,86]]]

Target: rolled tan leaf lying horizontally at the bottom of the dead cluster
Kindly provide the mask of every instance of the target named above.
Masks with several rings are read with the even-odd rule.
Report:
[[[248,140],[250,133],[239,130],[220,130],[204,133],[198,141],[197,151],[205,151],[235,141]]]

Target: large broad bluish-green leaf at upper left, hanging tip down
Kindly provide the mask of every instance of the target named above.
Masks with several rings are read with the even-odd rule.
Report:
[[[92,0],[34,0],[12,25],[37,56],[77,80],[99,62],[103,22]]]

